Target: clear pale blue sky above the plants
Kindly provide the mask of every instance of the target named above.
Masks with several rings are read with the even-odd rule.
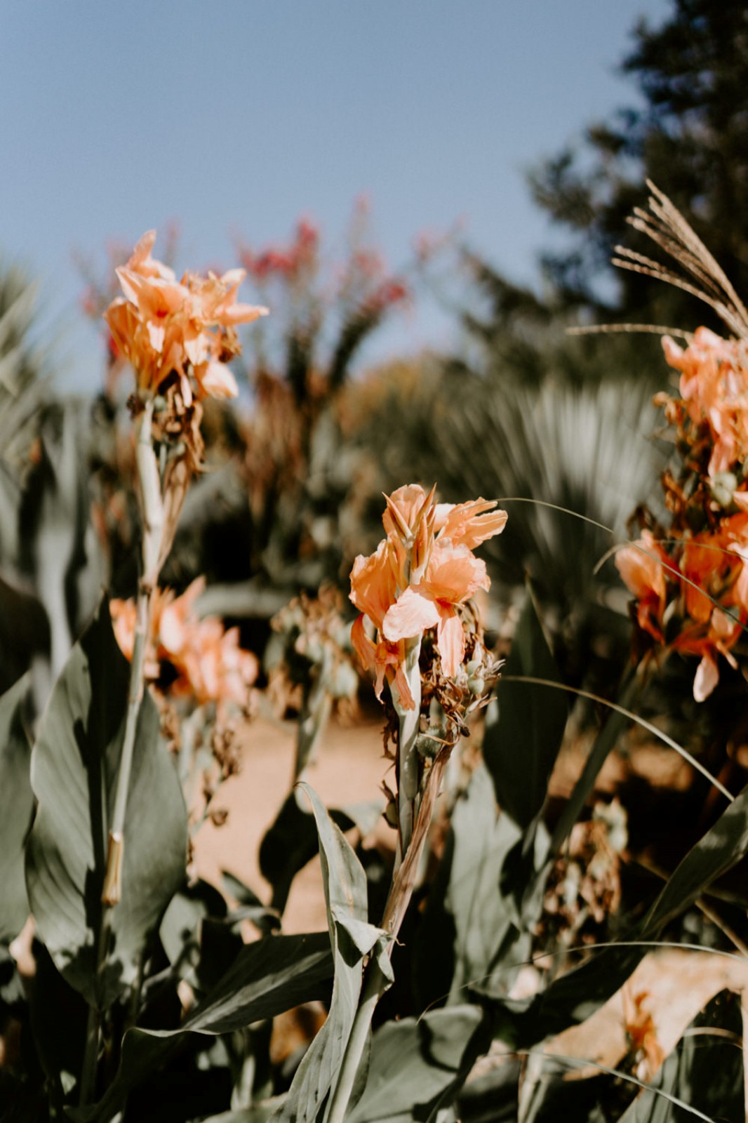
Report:
[[[232,234],[285,238],[301,213],[340,243],[372,203],[392,266],[414,234],[465,222],[531,281],[548,238],[526,170],[635,99],[615,66],[668,0],[4,0],[0,250],[66,323],[66,385],[93,386],[73,252],[98,258],[180,223],[180,267],[235,264]],[[158,252],[158,244],[156,247]],[[248,287],[243,293],[250,299]],[[434,310],[372,346],[445,345]]]

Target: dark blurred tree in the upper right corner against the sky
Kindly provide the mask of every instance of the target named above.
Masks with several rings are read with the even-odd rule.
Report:
[[[567,303],[688,326],[693,303],[677,290],[630,273],[619,276],[611,301],[600,283],[613,247],[636,247],[626,219],[649,179],[693,222],[738,291],[748,287],[748,8],[673,0],[665,22],[637,25],[620,69],[639,103],[590,126],[530,176],[536,201],[572,234],[571,250],[544,265]]]

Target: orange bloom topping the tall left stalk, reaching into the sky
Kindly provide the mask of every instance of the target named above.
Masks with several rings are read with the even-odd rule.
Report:
[[[144,234],[126,265],[117,270],[125,293],[104,312],[112,339],[129,359],[138,392],[150,395],[172,373],[180,381],[184,403],[198,396],[235,398],[237,385],[226,365],[240,354],[236,334],[267,309],[237,303],[245,270],[222,276],[185,273],[176,281],[173,270],[150,256],[156,231]]]

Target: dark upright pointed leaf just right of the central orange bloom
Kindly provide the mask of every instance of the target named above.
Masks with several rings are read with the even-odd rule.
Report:
[[[483,758],[500,807],[528,829],[546,801],[567,718],[563,692],[507,681],[526,675],[560,682],[529,591],[503,675],[486,714]]]

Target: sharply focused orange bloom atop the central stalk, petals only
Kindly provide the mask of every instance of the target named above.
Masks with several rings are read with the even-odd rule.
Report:
[[[375,675],[376,695],[384,679],[395,684],[402,705],[414,709],[404,674],[407,645],[436,628],[444,674],[457,674],[465,656],[459,609],[490,585],[485,562],[473,549],[507,522],[505,511],[492,511],[495,500],[435,503],[418,484],[385,496],[382,518],[386,538],[370,557],[361,554],[350,574],[350,600],[361,615],[352,640],[363,665]],[[365,629],[368,617],[376,629]]]

